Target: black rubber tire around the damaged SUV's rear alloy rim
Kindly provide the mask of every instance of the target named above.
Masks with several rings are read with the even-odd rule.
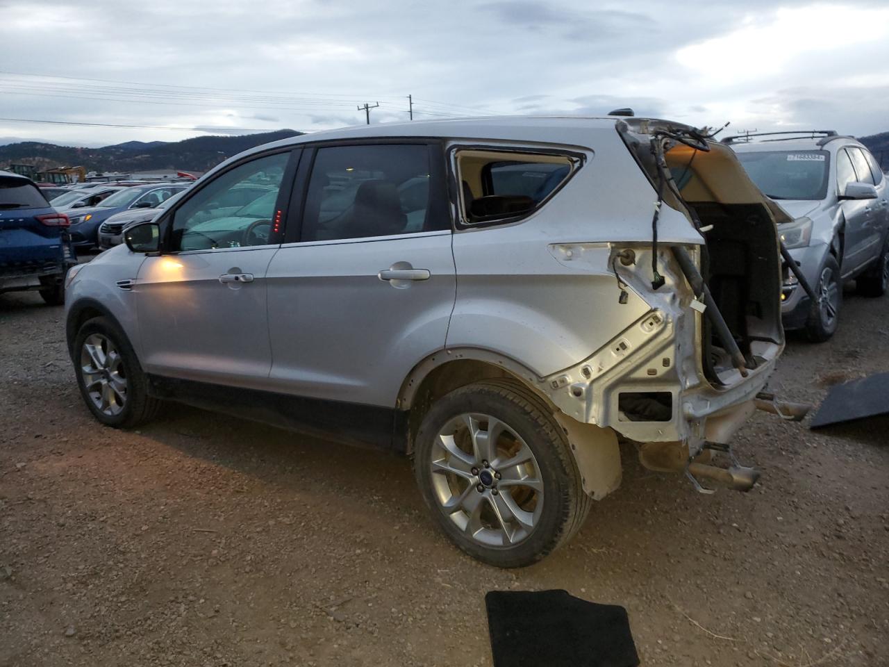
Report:
[[[537,414],[533,414],[536,412]],[[460,528],[445,516],[434,496],[432,471],[429,460],[434,438],[447,422],[453,417],[464,413],[491,414],[509,424],[517,434],[525,440],[537,460],[543,480],[544,500],[541,517],[533,533],[510,547],[487,547],[466,538]],[[504,398],[495,389],[485,385],[471,385],[455,390],[440,398],[429,410],[420,425],[414,446],[414,475],[420,486],[420,494],[426,502],[436,523],[461,550],[475,559],[496,567],[524,567],[540,560],[553,550],[562,534],[567,530],[570,508],[569,494],[573,483],[572,474],[579,475],[576,469],[566,470],[565,458],[571,457],[567,443],[561,438],[562,431],[553,421],[557,442],[550,441],[540,428],[538,420],[552,419],[551,415],[534,409],[532,412]],[[563,457],[556,453],[558,447],[563,448]]]

